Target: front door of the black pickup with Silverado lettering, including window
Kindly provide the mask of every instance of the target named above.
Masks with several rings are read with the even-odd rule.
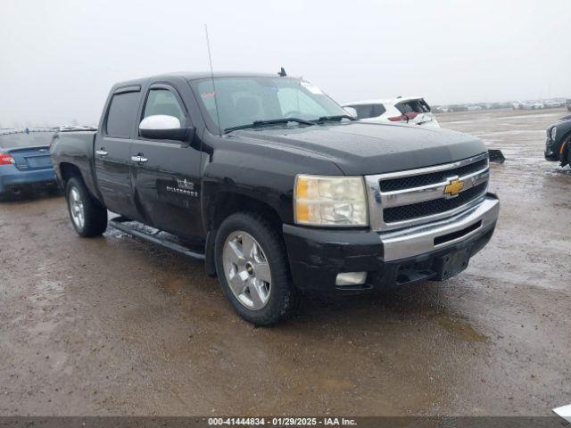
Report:
[[[176,117],[183,127],[192,126],[174,86],[154,84],[147,90],[139,123],[158,114]],[[190,142],[137,136],[131,146],[131,160],[135,201],[145,223],[188,238],[202,237],[198,148]]]

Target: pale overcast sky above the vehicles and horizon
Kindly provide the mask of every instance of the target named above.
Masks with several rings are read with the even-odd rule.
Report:
[[[18,1],[0,10],[0,126],[98,121],[116,81],[277,72],[338,102],[571,96],[571,1]]]

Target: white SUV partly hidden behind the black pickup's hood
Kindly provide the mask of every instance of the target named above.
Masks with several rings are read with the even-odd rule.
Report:
[[[344,103],[345,110],[357,119],[367,121],[406,122],[440,128],[430,106],[419,96],[397,97],[390,100],[370,100]]]

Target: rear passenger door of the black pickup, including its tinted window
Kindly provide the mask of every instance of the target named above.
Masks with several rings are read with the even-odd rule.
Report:
[[[118,89],[108,103],[95,137],[95,176],[105,206],[137,219],[130,177],[131,144],[141,95],[140,86]]]

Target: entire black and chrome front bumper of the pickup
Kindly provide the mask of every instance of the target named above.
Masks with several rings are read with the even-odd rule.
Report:
[[[360,292],[444,280],[468,266],[493,234],[500,202],[492,193],[454,217],[378,233],[284,225],[294,284],[316,292]],[[459,259],[451,267],[451,259]],[[364,284],[335,285],[337,274],[367,272]]]

